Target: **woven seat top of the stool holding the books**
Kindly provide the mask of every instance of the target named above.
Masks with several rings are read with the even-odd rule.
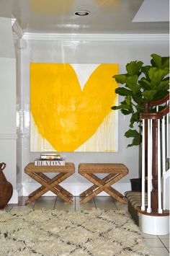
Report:
[[[75,172],[75,167],[73,163],[66,163],[65,165],[35,165],[34,163],[27,164],[24,167],[26,172]]]

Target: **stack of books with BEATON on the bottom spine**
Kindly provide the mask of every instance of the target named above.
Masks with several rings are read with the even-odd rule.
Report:
[[[60,166],[65,165],[65,160],[60,154],[41,154],[40,159],[35,160],[35,165]]]

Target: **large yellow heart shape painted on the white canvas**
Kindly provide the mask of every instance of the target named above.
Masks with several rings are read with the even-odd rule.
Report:
[[[74,151],[102,124],[115,104],[117,64],[101,64],[81,91],[70,64],[30,64],[30,110],[37,131],[56,151]]]

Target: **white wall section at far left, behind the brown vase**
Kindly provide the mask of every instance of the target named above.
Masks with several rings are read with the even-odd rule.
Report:
[[[17,203],[16,60],[10,19],[0,18],[0,35],[0,162],[6,163],[4,175]]]

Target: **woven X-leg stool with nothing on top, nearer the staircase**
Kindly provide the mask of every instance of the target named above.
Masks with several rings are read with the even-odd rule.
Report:
[[[103,179],[99,179],[99,177],[94,175],[97,173],[106,173],[108,175]],[[120,203],[126,202],[124,196],[111,187],[112,184],[128,175],[128,168],[124,164],[79,164],[79,174],[94,183],[93,186],[80,194],[80,196],[84,197],[81,203],[88,202],[102,191],[111,195],[112,198]]]

